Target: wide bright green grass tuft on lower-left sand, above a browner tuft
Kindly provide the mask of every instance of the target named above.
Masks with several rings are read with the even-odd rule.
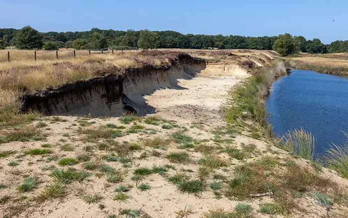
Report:
[[[74,169],[60,169],[52,170],[51,176],[62,183],[70,183],[71,181],[82,182],[89,176],[89,173],[77,171]]]

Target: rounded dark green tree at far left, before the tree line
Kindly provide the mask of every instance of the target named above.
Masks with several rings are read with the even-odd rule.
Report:
[[[24,26],[16,36],[16,48],[18,49],[41,49],[43,45],[42,35],[30,26]]]

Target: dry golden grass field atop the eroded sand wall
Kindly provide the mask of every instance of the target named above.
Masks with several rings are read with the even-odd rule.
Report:
[[[18,108],[23,94],[106,74],[121,75],[126,69],[170,66],[182,55],[171,51],[92,53],[76,51],[74,58],[73,50],[60,50],[57,60],[55,52],[37,51],[35,61],[33,51],[13,50],[7,62],[7,51],[0,51],[0,109]]]

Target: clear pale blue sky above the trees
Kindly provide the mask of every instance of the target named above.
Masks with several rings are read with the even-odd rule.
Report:
[[[0,28],[174,30],[348,40],[347,0],[0,0]],[[335,22],[333,22],[335,19]]]

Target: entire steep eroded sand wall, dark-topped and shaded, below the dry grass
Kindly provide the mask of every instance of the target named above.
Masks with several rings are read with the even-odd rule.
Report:
[[[147,66],[126,70],[123,76],[107,75],[50,88],[25,96],[23,111],[46,115],[120,116],[125,111],[154,113],[143,98],[159,89],[180,89],[177,79],[191,79],[205,69],[201,59],[178,60],[170,67]]]

